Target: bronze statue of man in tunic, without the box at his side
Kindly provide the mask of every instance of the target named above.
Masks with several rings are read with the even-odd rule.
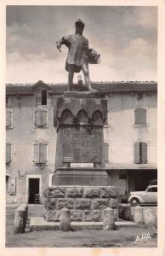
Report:
[[[79,73],[81,70],[84,74],[85,84],[89,91],[97,92],[91,87],[88,71],[88,39],[83,37],[84,23],[78,19],[75,22],[76,32],[73,35],[68,35],[56,42],[57,49],[60,50],[61,44],[65,44],[69,51],[65,62],[65,70],[68,71],[68,86],[72,90],[74,73]]]

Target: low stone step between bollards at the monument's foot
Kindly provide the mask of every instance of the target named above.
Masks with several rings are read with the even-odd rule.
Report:
[[[71,222],[71,230],[102,230],[104,222]],[[117,221],[116,228],[137,228],[131,221]],[[60,230],[60,222],[46,221],[43,217],[30,218],[30,230]]]

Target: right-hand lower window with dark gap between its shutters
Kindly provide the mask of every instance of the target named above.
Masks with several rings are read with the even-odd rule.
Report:
[[[134,143],[134,164],[147,164],[147,143]]]

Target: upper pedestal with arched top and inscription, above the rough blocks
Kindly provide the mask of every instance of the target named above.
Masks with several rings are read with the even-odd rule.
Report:
[[[54,185],[109,184],[104,168],[108,161],[105,157],[108,155],[107,143],[103,138],[106,119],[107,102],[100,99],[99,94],[66,91],[57,99],[54,108],[57,131]],[[74,164],[78,167],[73,167]]]

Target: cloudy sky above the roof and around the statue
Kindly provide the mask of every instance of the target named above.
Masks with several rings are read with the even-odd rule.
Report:
[[[89,64],[91,81],[157,80],[156,7],[8,6],[6,15],[7,83],[66,83],[68,49],[60,53],[55,42],[75,33],[78,18],[100,53],[100,64]]]

